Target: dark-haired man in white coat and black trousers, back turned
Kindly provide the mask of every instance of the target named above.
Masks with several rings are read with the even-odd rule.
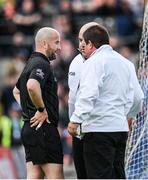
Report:
[[[87,178],[124,179],[127,118],[140,111],[143,92],[133,65],[111,48],[104,27],[88,28],[82,41],[88,59],[68,131],[76,135],[82,126]]]

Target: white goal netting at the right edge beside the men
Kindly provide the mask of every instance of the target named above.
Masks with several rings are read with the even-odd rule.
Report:
[[[142,112],[133,122],[127,141],[125,153],[127,179],[148,179],[148,1],[145,2],[139,49],[138,78],[145,97]]]

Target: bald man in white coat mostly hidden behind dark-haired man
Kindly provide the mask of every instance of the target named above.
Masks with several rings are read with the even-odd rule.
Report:
[[[69,118],[75,110],[75,102],[79,95],[80,77],[83,69],[84,61],[86,60],[85,54],[83,54],[82,37],[83,33],[91,26],[98,25],[96,22],[89,22],[84,24],[79,31],[79,51],[78,54],[71,62],[68,74],[68,86],[69,86]],[[80,130],[80,127],[79,127]],[[78,179],[86,179],[86,168],[83,158],[83,138],[80,136],[74,136],[73,141],[73,159]]]

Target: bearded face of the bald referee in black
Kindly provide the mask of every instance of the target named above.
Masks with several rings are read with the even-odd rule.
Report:
[[[49,60],[56,59],[56,55],[61,50],[60,35],[58,32],[54,32],[46,41],[46,54]]]

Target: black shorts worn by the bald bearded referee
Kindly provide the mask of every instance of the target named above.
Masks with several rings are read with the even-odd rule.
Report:
[[[26,162],[63,164],[60,135],[54,125],[44,122],[38,130],[35,130],[34,127],[30,127],[30,122],[25,122],[21,135]]]

